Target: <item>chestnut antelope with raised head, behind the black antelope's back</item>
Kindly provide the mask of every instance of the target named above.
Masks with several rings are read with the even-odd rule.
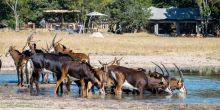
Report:
[[[53,40],[52,40],[52,44],[50,46],[50,51],[55,51],[56,53],[63,53],[63,54],[68,54],[70,55],[72,58],[78,58],[81,61],[85,61],[90,63],[90,59],[89,56],[84,54],[84,53],[74,53],[71,49],[67,48],[66,46],[64,46],[63,44],[59,43],[61,40],[55,42],[56,39],[56,35],[54,36]]]

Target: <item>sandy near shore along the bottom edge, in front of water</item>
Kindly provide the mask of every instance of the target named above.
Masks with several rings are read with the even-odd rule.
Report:
[[[85,99],[85,98],[50,98],[50,97],[31,97],[13,96],[0,101],[1,108],[4,110],[47,110],[47,109],[80,109],[80,110],[217,110],[219,104],[209,103],[144,103],[137,101],[123,100],[102,100],[102,99]],[[17,97],[22,99],[17,99]]]

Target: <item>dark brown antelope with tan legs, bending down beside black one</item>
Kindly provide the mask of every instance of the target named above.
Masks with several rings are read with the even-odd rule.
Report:
[[[70,79],[78,79],[81,82],[81,90],[82,95],[87,96],[88,95],[88,82],[90,81],[92,84],[95,84],[98,88],[99,86],[99,77],[96,74],[95,69],[87,62],[79,62],[79,61],[67,61],[63,63],[62,69],[61,69],[61,78],[56,83],[56,87],[54,89],[54,92],[57,91],[58,86],[60,83],[67,79],[68,77]],[[86,91],[86,92],[85,92]]]

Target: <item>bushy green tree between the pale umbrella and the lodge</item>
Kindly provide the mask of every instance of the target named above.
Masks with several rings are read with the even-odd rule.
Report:
[[[150,11],[142,2],[143,0],[115,0],[109,4],[106,13],[110,31],[136,32],[146,26]]]

